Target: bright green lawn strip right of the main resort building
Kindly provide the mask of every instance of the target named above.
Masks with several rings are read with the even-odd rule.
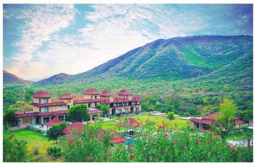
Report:
[[[183,127],[187,127],[187,123],[189,121],[187,120],[181,120],[180,118],[175,118],[175,120],[173,120],[172,122],[170,122],[170,120],[168,120],[165,116],[152,116],[152,115],[147,115],[147,114],[143,114],[140,116],[130,116],[132,118],[134,118],[136,121],[143,121],[145,122],[146,120],[155,122],[156,125],[158,126],[168,126],[171,128],[176,128],[177,129],[181,129]]]

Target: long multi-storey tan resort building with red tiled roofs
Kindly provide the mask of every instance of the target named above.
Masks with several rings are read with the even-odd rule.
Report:
[[[95,89],[88,89],[82,92],[82,98],[76,98],[68,93],[62,94],[58,100],[52,100],[52,97],[46,91],[38,91],[31,97],[33,101],[30,105],[32,110],[17,111],[16,117],[19,118],[19,126],[47,123],[57,117],[60,121],[68,121],[68,110],[78,104],[86,104],[90,114],[90,121],[100,118],[101,111],[95,109],[99,104],[109,106],[108,115],[120,115],[135,113],[141,111],[140,98],[131,97],[127,90],[121,90],[118,98],[113,98],[112,93],[108,91],[98,92]]]

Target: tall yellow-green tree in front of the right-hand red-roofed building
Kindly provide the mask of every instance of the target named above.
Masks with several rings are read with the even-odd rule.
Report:
[[[219,125],[223,139],[236,127],[235,114],[237,109],[236,104],[232,100],[224,99],[223,103],[220,104],[220,113],[216,116],[215,120]]]

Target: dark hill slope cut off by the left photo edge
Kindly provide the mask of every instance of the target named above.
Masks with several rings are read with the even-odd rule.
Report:
[[[32,81],[21,79],[6,70],[3,70],[4,86],[31,85]]]

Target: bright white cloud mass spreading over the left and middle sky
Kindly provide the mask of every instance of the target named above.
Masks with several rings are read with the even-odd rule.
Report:
[[[77,11],[72,5],[36,6],[24,10],[18,18],[28,18],[22,39],[16,43],[20,52],[13,59],[22,62],[19,76],[47,77],[58,73],[85,72],[110,59],[159,38],[189,35],[203,28],[203,20],[191,10],[178,11],[163,5],[93,5],[90,20],[77,35],[56,35],[69,27]],[[36,51],[43,41],[49,49]],[[25,70],[24,70],[25,69]],[[14,71],[17,71],[13,69]],[[23,72],[22,72],[23,71]],[[24,72],[26,71],[26,72]],[[12,72],[12,71],[10,71]]]

